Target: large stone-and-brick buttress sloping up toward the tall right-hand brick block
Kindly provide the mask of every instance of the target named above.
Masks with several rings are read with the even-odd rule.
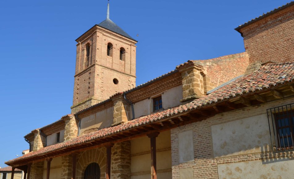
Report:
[[[249,56],[243,52],[208,60],[192,60],[178,66],[183,84],[181,102],[204,96],[213,88],[243,75],[248,65]]]

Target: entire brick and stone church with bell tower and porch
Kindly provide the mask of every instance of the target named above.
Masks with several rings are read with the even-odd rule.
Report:
[[[245,52],[136,86],[137,41],[108,3],[76,39],[71,114],[24,136],[11,179],[293,178],[294,2],[235,30]]]

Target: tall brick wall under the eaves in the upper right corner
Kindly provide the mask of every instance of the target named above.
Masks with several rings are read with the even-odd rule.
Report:
[[[250,63],[293,62],[294,6],[241,28]]]

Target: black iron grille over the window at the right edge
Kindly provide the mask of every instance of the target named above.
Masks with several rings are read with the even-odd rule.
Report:
[[[271,147],[274,153],[294,150],[293,104],[267,109]]]

